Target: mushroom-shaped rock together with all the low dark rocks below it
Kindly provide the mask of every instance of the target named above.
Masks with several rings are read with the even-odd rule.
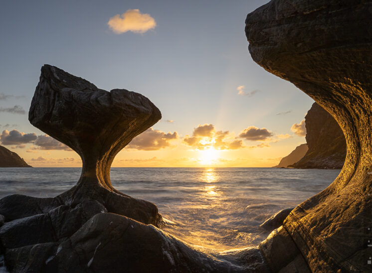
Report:
[[[160,228],[145,200],[113,188],[110,166],[129,141],[160,120],[158,108],[44,65],[29,121],[82,158],[79,181],[54,198],[0,200],[0,255],[10,272],[268,272],[258,248],[223,254],[187,245]]]

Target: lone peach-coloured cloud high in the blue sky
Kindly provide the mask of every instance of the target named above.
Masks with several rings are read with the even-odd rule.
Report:
[[[123,14],[116,14],[107,23],[112,31],[121,34],[127,31],[145,33],[155,28],[156,21],[150,14],[141,13],[139,9],[128,9]]]

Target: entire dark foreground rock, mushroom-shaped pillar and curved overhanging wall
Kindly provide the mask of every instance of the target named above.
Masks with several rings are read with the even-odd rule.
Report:
[[[272,0],[248,14],[255,62],[294,83],[335,118],[347,156],[337,179],[255,248],[215,253],[162,231],[147,201],[111,185],[110,166],[160,118],[146,97],[110,92],[44,65],[29,121],[74,149],[83,169],[55,198],[0,200],[0,255],[10,272],[369,272],[372,1]],[[275,220],[276,221],[276,220]],[[274,222],[275,222],[274,221]]]

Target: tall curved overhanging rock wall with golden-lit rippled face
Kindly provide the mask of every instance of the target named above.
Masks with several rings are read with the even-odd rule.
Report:
[[[274,271],[303,264],[301,257],[314,272],[370,270],[371,25],[371,0],[272,0],[246,18],[253,60],[325,108],[347,142],[336,180],[296,207],[261,245]],[[301,255],[280,255],[279,246],[293,242]]]

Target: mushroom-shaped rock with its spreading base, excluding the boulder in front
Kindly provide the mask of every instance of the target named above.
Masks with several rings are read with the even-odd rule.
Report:
[[[125,195],[110,182],[115,155],[160,118],[159,109],[138,93],[107,92],[44,65],[29,120],[74,149],[82,158],[82,173],[72,189],[54,198],[13,194],[0,199],[0,251],[41,243],[54,246],[53,242],[68,240],[98,213],[162,227],[156,205]]]

